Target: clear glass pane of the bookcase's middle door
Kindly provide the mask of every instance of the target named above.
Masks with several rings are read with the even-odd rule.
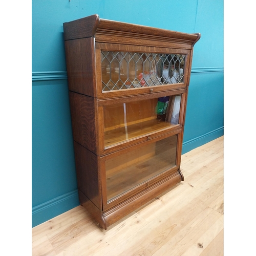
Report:
[[[145,136],[179,123],[181,95],[104,106],[104,145]]]

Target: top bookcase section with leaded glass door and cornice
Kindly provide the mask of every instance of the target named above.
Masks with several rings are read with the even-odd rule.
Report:
[[[200,34],[114,22],[63,24],[69,90],[98,99],[185,89]]]

